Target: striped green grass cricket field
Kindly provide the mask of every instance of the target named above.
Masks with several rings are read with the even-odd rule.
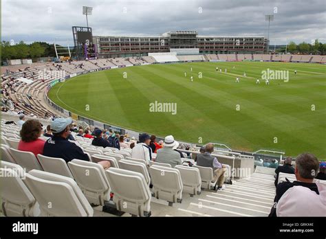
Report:
[[[268,68],[289,70],[289,82],[255,84]],[[69,111],[124,128],[172,134],[194,143],[219,142],[237,150],[278,149],[293,156],[307,151],[325,158],[325,69],[325,65],[283,62],[145,65],[78,76],[56,84],[49,96]],[[237,76],[240,83],[235,83]],[[177,103],[177,114],[150,112],[149,104],[155,100]]]

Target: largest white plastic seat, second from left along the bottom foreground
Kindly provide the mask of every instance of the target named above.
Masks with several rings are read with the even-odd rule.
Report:
[[[41,216],[93,216],[77,183],[51,172],[31,170],[23,180],[41,207]]]

